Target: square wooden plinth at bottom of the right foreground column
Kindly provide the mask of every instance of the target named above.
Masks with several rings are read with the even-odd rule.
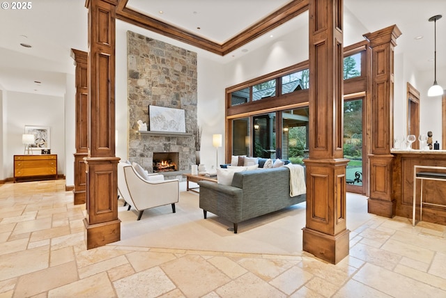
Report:
[[[310,228],[302,228],[302,230],[303,250],[312,253],[316,258],[337,264],[348,256],[350,230],[343,230],[334,236]]]

